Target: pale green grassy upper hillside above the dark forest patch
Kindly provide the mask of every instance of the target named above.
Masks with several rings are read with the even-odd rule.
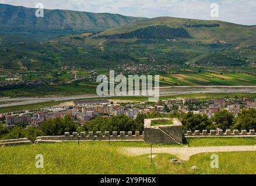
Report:
[[[131,31],[138,30],[139,28],[149,26],[184,28],[196,41],[209,44],[215,44],[216,42],[220,42],[220,44],[236,44],[237,42],[243,42],[255,38],[256,34],[256,26],[243,26],[220,21],[156,17],[134,24],[129,24],[127,26],[106,30],[100,35],[129,33]]]

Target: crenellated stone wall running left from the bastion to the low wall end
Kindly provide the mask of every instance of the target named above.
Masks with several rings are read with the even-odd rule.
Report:
[[[140,135],[139,131],[135,132],[135,135],[132,134],[132,132],[128,132],[128,135],[125,135],[125,132],[120,132],[120,135],[116,131],[112,133],[112,135],[106,131],[104,134],[100,131],[93,133],[89,132],[89,135],[86,135],[85,132],[82,132],[80,134],[73,133],[70,135],[69,133],[65,133],[65,135],[61,136],[43,136],[38,137],[38,141],[134,141],[134,140],[144,140],[144,133]]]

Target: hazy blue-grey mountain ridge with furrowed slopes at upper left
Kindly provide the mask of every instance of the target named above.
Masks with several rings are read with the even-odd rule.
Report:
[[[58,9],[44,9],[44,17],[36,17],[36,10],[36,8],[0,3],[0,27],[59,31],[102,31],[146,19],[145,17],[131,17],[111,13]]]

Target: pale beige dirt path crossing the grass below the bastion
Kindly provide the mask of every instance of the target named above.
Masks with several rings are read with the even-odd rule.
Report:
[[[153,148],[152,153],[169,153],[176,155],[181,160],[189,160],[190,156],[198,153],[208,152],[251,152],[256,151],[256,145],[254,146],[204,146],[204,147],[162,147]],[[122,148],[122,153],[131,156],[139,156],[150,154],[150,148]]]

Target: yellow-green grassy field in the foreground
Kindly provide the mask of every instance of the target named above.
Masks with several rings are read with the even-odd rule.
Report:
[[[256,174],[256,152],[216,153],[219,169],[212,169],[212,153],[194,155],[180,164],[170,162],[176,156],[156,154],[151,164],[149,155],[127,156],[120,152],[122,146],[148,145],[89,142],[2,147],[0,174]],[[38,154],[44,156],[44,169],[35,167]]]

